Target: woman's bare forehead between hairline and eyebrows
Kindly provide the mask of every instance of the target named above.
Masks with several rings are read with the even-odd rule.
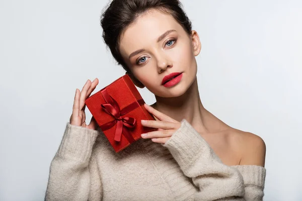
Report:
[[[135,50],[154,45],[160,35],[171,29],[184,32],[172,15],[157,10],[149,11],[139,16],[124,31],[120,40],[121,54],[126,56]]]

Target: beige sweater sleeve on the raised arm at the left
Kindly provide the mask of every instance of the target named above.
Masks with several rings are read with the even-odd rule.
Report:
[[[91,177],[91,171],[97,168],[92,166],[96,163],[90,160],[98,134],[97,130],[66,124],[61,144],[50,164],[45,200],[87,201],[91,188],[100,189],[100,178]]]

